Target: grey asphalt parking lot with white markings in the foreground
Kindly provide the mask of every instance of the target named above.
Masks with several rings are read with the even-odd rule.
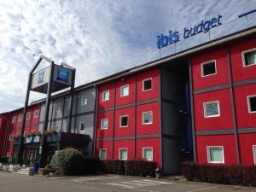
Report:
[[[39,177],[0,172],[1,192],[255,192],[256,188],[209,183],[173,182],[169,179],[124,177],[118,175],[86,177]]]

